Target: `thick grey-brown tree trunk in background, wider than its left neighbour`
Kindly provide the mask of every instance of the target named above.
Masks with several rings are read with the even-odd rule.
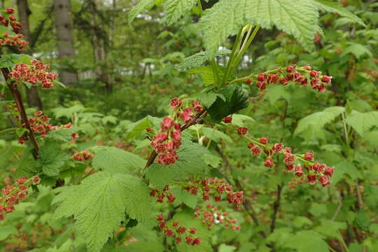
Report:
[[[57,31],[57,46],[61,63],[64,60],[74,59],[75,49],[73,48],[73,35],[71,23],[70,0],[54,0],[55,28]],[[78,75],[72,71],[61,69],[60,80],[66,85],[78,82]]]

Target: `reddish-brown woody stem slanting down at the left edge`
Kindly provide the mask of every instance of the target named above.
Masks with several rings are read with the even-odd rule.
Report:
[[[15,81],[12,80],[9,82],[9,76],[8,76],[9,70],[7,68],[3,67],[1,69],[1,72],[3,73],[3,76],[7,83],[6,85],[8,85],[10,93],[12,94],[13,99],[15,100],[16,106],[18,108],[18,111],[20,112],[22,127],[25,127],[25,129],[28,130],[26,135],[27,137],[29,137],[31,144],[33,144],[33,147],[34,147],[33,156],[34,156],[34,159],[36,159],[38,158],[39,146],[38,146],[38,143],[36,142],[33,131],[31,130],[31,127],[29,125],[29,121],[27,119],[27,113],[25,111],[25,106],[22,102],[22,96],[21,96],[20,90],[18,90],[18,86],[17,86],[17,83],[15,83]]]

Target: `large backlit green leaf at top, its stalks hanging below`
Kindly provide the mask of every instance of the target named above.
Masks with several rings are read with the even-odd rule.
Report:
[[[237,34],[247,22],[266,29],[276,26],[311,50],[318,30],[318,10],[311,0],[221,0],[205,10],[200,20],[205,48],[215,55],[225,38]]]

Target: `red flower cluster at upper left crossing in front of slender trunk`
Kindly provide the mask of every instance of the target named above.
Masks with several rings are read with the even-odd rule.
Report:
[[[42,84],[43,89],[52,87],[52,81],[57,78],[56,73],[50,73],[50,66],[43,64],[37,59],[31,60],[30,64],[15,64],[9,77],[17,82],[25,81],[31,85]]]

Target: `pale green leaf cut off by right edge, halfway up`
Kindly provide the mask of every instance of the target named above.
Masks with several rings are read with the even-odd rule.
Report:
[[[378,111],[359,113],[353,111],[351,116],[346,118],[346,123],[363,136],[370,128],[378,127]]]

